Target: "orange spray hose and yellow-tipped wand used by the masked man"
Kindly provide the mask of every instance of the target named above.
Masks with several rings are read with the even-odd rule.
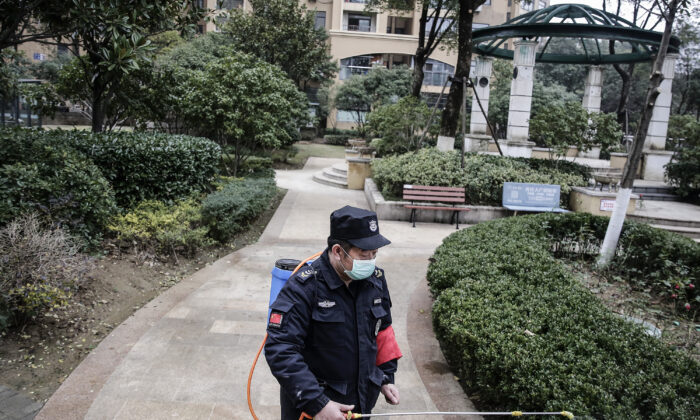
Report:
[[[319,252],[315,253],[314,255],[310,256],[309,258],[305,259],[304,261],[300,262],[299,265],[296,266],[294,271],[292,271],[292,274],[289,275],[289,277],[292,277],[294,275],[294,273],[299,271],[299,269],[304,266],[304,264],[306,264],[310,260],[313,260],[314,258],[317,258],[322,253],[323,253],[323,251],[319,251]],[[253,418],[255,420],[260,420],[260,419],[258,419],[258,416],[255,415],[255,410],[253,410],[253,402],[250,399],[250,384],[253,380],[253,372],[255,371],[255,365],[258,364],[258,358],[260,358],[260,353],[262,353],[262,350],[265,347],[265,341],[267,341],[267,333],[265,334],[265,337],[263,338],[262,343],[260,343],[260,348],[258,349],[258,352],[255,354],[255,359],[253,359],[253,365],[250,367],[250,373],[248,374],[248,387],[246,389],[246,393],[248,395],[248,409],[250,410],[250,414],[253,416]],[[568,419],[574,418],[574,415],[568,411],[553,411],[553,412],[413,411],[413,412],[407,412],[407,413],[383,413],[383,414],[360,414],[360,413],[353,413],[352,411],[348,411],[346,419],[351,420],[351,419],[361,419],[361,418],[367,418],[367,417],[386,417],[386,416],[397,416],[398,417],[398,416],[448,416],[448,415],[453,415],[453,416],[511,416],[511,417],[564,416]],[[299,420],[303,420],[303,419],[313,419],[313,418],[306,413],[301,413]]]

